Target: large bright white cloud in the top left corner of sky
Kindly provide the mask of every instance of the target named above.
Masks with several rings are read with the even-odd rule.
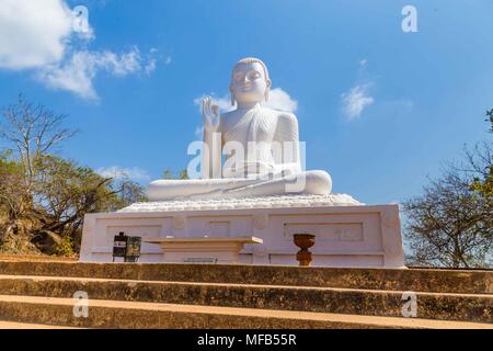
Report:
[[[88,18],[87,8],[71,10],[66,0],[0,0],[0,68],[33,69],[47,87],[92,100],[101,71],[125,77],[156,69],[156,48],[145,59],[137,47],[123,54],[88,50],[94,38]]]

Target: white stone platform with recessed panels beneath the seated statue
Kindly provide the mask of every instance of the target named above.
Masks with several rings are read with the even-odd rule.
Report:
[[[80,260],[111,262],[119,231],[142,237],[139,262],[163,262],[146,238],[254,236],[246,264],[297,265],[293,235],[317,236],[312,265],[404,267],[398,205],[360,204],[346,194],[136,203],[117,213],[85,215]]]

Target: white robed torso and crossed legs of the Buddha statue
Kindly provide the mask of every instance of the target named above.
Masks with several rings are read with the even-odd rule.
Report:
[[[332,181],[326,172],[301,171],[298,122],[290,113],[263,107],[246,112],[238,121],[233,116],[226,117],[218,133],[205,132],[204,140],[209,155],[203,158],[203,179],[151,182],[147,190],[149,200],[325,194],[331,191]],[[227,155],[222,169],[221,150]],[[218,174],[221,178],[214,178]]]

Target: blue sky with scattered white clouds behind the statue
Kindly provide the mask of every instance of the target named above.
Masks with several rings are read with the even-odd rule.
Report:
[[[416,33],[401,29],[406,4]],[[76,5],[89,10],[82,33],[67,25]],[[202,124],[194,100],[227,101],[245,56],[267,64],[278,103],[296,107],[307,168],[362,202],[419,194],[488,137],[491,0],[0,0],[0,105],[22,92],[68,114],[80,134],[62,156],[142,183],[186,168]]]

